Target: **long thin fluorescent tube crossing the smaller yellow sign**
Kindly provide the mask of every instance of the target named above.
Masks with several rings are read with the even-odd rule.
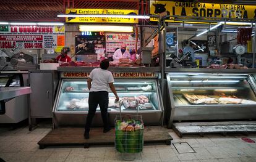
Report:
[[[57,17],[112,17],[112,18],[143,18],[149,19],[147,15],[82,15],[82,14],[62,14]]]

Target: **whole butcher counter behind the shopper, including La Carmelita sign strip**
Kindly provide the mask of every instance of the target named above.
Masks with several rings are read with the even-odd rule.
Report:
[[[60,81],[54,101],[54,127],[84,126],[88,113],[87,78],[93,68],[59,67]],[[120,99],[134,99],[139,102],[139,114],[145,125],[163,123],[163,102],[161,99],[158,72],[160,68],[147,67],[111,67],[114,86]],[[114,126],[114,119],[120,108],[124,115],[135,115],[134,102],[114,103],[114,94],[109,89],[109,123]],[[129,118],[129,116],[127,117]],[[96,110],[94,126],[103,126],[100,108]]]

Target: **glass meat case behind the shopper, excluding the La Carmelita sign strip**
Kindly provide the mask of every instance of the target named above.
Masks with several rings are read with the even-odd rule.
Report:
[[[138,100],[139,113],[144,115],[145,124],[161,124],[161,103],[159,97],[159,89],[156,79],[115,79],[114,86],[120,100],[124,100],[121,104],[115,103],[114,94],[109,89],[109,123],[114,124],[114,118],[120,113],[136,113],[135,101]],[[62,79],[59,85],[59,92],[54,105],[54,114],[58,125],[80,125],[85,123],[83,118],[88,113],[88,87],[86,79]],[[95,125],[101,125],[100,107],[96,109]],[[77,117],[74,117],[76,116]],[[152,116],[156,118],[152,119]],[[62,117],[61,117],[62,116]],[[69,123],[61,118],[72,118]],[[79,117],[80,116],[80,117]],[[74,119],[77,118],[77,119]],[[148,119],[147,119],[148,118]],[[75,120],[75,121],[74,121]]]

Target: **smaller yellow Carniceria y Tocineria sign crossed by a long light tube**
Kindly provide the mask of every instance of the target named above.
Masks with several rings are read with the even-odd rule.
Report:
[[[77,15],[138,15],[138,10],[66,9],[66,14]],[[138,18],[66,17],[67,23],[139,23]]]

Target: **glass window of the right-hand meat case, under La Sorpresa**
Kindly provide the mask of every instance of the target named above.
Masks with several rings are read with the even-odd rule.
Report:
[[[175,105],[255,104],[248,75],[169,73]]]

